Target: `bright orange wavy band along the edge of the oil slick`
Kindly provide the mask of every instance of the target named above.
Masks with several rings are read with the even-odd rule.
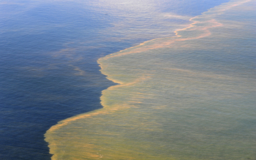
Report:
[[[135,81],[126,83],[123,81],[117,81],[116,79],[113,79],[110,75],[108,75],[108,73],[106,72],[106,66],[103,65],[103,61],[107,60],[111,57],[117,57],[117,56],[122,56],[122,55],[128,55],[128,54],[135,54],[138,52],[145,52],[147,50],[150,49],[158,49],[158,48],[166,48],[169,47],[171,48],[171,44],[173,44],[174,42],[177,41],[187,41],[187,40],[191,40],[191,39],[201,39],[203,37],[206,36],[210,36],[211,32],[210,32],[210,28],[215,28],[215,27],[219,27],[222,26],[222,23],[217,22],[217,20],[214,19],[214,16],[216,15],[222,15],[226,10],[231,9],[233,7],[236,7],[238,5],[244,4],[246,2],[249,2],[252,0],[244,0],[244,1],[229,1],[227,3],[223,3],[220,4],[217,7],[213,7],[211,9],[208,9],[207,12],[203,12],[202,15],[197,15],[195,17],[192,17],[189,21],[191,21],[192,23],[187,27],[187,28],[182,28],[182,29],[178,29],[177,31],[175,31],[176,36],[173,37],[166,37],[166,38],[159,38],[159,39],[152,39],[149,41],[145,41],[142,44],[139,44],[138,46],[135,47],[130,47],[128,49],[124,49],[121,50],[119,52],[107,55],[105,57],[101,57],[99,58],[99,60],[97,60],[97,63],[99,63],[99,66],[101,68],[101,72],[102,74],[104,74],[105,76],[107,76],[107,79],[109,79],[110,81],[115,82],[117,85],[112,86],[112,87],[108,87],[108,89],[105,89],[102,91],[102,96],[100,97],[101,100],[101,104],[103,106],[103,108],[95,110],[95,111],[91,111],[88,113],[82,113],[79,114],[77,116],[73,116],[69,119],[64,119],[62,121],[59,121],[58,124],[54,125],[53,127],[50,127],[50,129],[48,129],[48,131],[45,133],[45,141],[49,143],[48,147],[50,148],[50,153],[53,154],[53,156],[51,157],[51,159],[57,159],[57,155],[55,155],[55,151],[54,148],[56,148],[56,144],[54,143],[54,140],[50,137],[50,133],[54,132],[56,129],[60,129],[61,127],[64,127],[65,125],[69,124],[72,121],[76,121],[78,119],[86,119],[89,117],[93,117],[93,116],[97,116],[100,114],[108,114],[111,113],[113,111],[117,111],[120,110],[122,108],[127,108],[127,106],[108,106],[105,103],[105,91],[106,90],[112,90],[118,87],[124,87],[124,86],[129,86],[132,84],[136,84],[138,83],[138,81],[142,81],[143,79],[146,79],[145,76],[142,76],[140,79],[135,79]],[[192,36],[183,36],[182,32],[195,32],[195,31],[200,31],[200,33],[192,34]],[[189,35],[189,34],[188,34]]]

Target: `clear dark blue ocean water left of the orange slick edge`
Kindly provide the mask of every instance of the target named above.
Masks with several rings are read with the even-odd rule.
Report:
[[[99,72],[99,57],[172,36],[224,2],[0,1],[1,159],[50,159],[45,132],[101,108],[102,90],[114,84]],[[170,13],[183,17],[154,18]]]

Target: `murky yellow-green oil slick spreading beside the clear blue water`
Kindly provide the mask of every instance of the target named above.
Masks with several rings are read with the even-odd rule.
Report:
[[[100,58],[117,85],[104,108],[45,133],[52,159],[256,159],[255,15],[236,19],[254,4],[230,1],[175,37]]]

